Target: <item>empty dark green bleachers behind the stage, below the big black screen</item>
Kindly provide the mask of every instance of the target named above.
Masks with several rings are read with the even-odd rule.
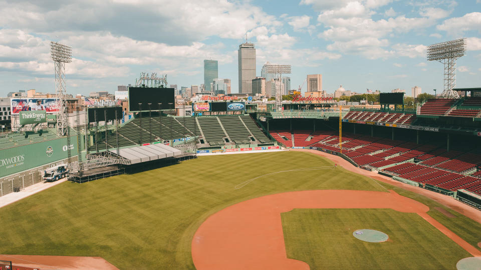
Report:
[[[153,113],[152,113],[153,114]],[[242,118],[242,119],[241,119]],[[198,120],[198,124],[196,122]],[[222,125],[217,120],[219,119]],[[246,125],[244,125],[246,124]],[[249,128],[246,128],[246,126]],[[99,126],[103,128],[103,126]],[[112,126],[110,126],[112,128]],[[223,129],[222,129],[223,128]],[[224,132],[227,132],[227,136]],[[102,137],[105,136],[105,129],[100,131]],[[140,135],[142,133],[142,135]],[[251,135],[254,135],[252,136]],[[272,142],[266,134],[259,128],[256,122],[249,115],[228,115],[228,116],[202,116],[202,117],[171,117],[168,115],[142,114],[140,119],[137,114],[135,118],[119,127],[118,134],[115,130],[110,130],[107,135],[107,146],[115,148],[117,145],[117,135],[119,147],[137,145],[163,140],[178,139],[184,137],[204,135],[204,145],[202,146],[221,146],[225,144],[262,144]],[[141,139],[142,137],[142,139]],[[254,140],[252,138],[254,138]],[[224,138],[230,138],[229,141]],[[105,139],[100,140],[88,147],[89,151],[105,149]]]

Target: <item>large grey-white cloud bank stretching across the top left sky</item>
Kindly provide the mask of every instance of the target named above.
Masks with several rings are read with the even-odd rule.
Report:
[[[28,32],[107,31],[116,36],[188,45],[207,36],[242,39],[259,26],[282,26],[275,16],[250,2],[227,0],[0,2],[0,25]],[[81,13],[82,16],[78,14]],[[75,19],[72,19],[75,18]]]

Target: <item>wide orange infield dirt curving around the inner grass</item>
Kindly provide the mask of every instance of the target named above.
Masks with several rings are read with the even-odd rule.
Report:
[[[392,190],[306,190],[262,196],[226,207],[200,225],[192,239],[195,267],[309,269],[304,261],[286,256],[281,213],[294,208],[392,208],[421,216],[429,210]],[[439,223],[431,224],[437,227]],[[481,252],[444,226],[439,230],[474,256],[481,256]]]

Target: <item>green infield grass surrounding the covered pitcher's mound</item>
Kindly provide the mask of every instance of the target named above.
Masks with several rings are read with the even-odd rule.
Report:
[[[393,209],[294,209],[281,214],[287,256],[311,269],[456,269],[471,256],[416,213]],[[355,238],[357,229],[389,235],[382,243]]]

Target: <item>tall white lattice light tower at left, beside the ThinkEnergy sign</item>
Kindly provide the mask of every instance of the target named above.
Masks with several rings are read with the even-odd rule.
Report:
[[[57,111],[57,133],[65,136],[68,132],[67,85],[65,83],[65,63],[72,62],[72,47],[50,41],[50,54],[55,63],[55,93],[59,99]]]

